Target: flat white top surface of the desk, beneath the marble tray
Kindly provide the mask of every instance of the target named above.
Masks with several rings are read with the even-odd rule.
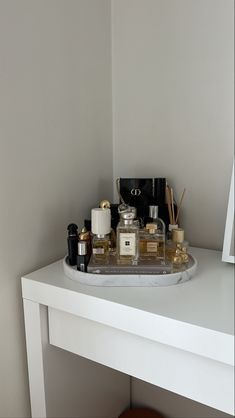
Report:
[[[24,279],[233,335],[234,265],[222,262],[219,251],[191,248],[190,252],[198,260],[195,277],[176,286],[86,286],[65,276],[62,260]],[[37,294],[32,294],[32,298],[37,299]]]

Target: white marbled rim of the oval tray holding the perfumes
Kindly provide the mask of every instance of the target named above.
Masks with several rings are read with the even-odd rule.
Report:
[[[78,271],[63,260],[64,273],[78,283],[92,286],[172,286],[190,280],[197,269],[197,260],[189,255],[187,268],[176,273],[166,274],[94,274]]]

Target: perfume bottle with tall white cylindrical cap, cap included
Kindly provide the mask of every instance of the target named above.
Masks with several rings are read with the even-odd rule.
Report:
[[[95,208],[91,210],[92,260],[95,264],[108,264],[109,234],[111,229],[111,215],[109,208]]]

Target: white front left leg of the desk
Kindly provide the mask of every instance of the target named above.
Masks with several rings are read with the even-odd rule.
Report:
[[[23,299],[32,418],[46,417],[40,305]]]

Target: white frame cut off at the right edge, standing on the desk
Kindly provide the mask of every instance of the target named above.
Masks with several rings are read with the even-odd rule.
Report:
[[[224,231],[222,261],[235,262],[234,254],[234,163],[228,200],[227,218]]]

